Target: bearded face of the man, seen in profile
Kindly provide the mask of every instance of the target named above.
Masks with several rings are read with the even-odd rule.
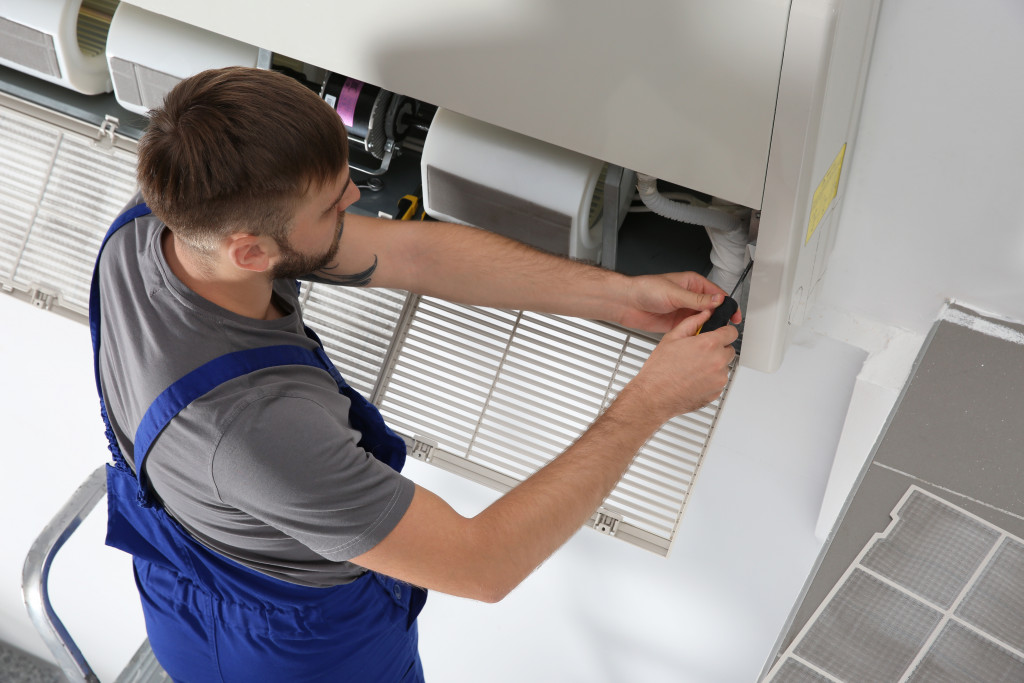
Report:
[[[359,189],[347,166],[334,182],[311,190],[296,212],[291,229],[284,237],[273,237],[281,259],[270,275],[294,280],[332,265],[345,225],[345,209],[358,199]]]

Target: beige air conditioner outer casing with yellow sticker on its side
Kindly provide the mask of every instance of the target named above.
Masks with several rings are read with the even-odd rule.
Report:
[[[501,0],[483,12],[437,0],[425,12],[393,0],[389,12],[416,22],[356,26],[337,0],[302,12],[133,2],[752,210],[740,362],[764,371],[781,362],[835,244],[880,4]]]

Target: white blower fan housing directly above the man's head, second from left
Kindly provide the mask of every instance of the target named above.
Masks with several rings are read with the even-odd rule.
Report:
[[[178,81],[207,69],[255,67],[259,49],[122,3],[111,23],[106,61],[126,110],[160,106]]]

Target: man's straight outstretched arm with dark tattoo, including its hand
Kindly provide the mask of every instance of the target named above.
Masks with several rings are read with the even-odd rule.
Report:
[[[721,289],[692,273],[630,278],[546,254],[499,234],[443,222],[348,214],[338,259],[315,273],[362,272],[369,285],[457,303],[522,308],[667,332],[695,310],[714,308]],[[733,322],[739,322],[739,313]]]

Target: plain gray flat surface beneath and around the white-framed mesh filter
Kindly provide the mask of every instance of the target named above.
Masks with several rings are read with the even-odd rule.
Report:
[[[1024,334],[1024,326],[991,322]],[[890,511],[910,485],[1024,538],[1022,405],[1024,346],[948,321],[936,324],[778,652],[790,646],[872,535],[888,526]]]

